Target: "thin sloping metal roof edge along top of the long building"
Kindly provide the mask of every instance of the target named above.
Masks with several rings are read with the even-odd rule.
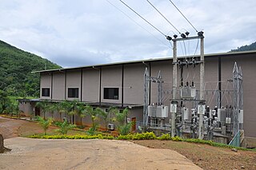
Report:
[[[214,57],[214,56],[229,56],[229,55],[238,55],[238,54],[248,54],[248,53],[256,53],[256,50],[252,51],[242,51],[242,52],[230,52],[230,53],[208,53],[205,54],[205,57]],[[178,58],[182,58],[184,56],[180,56]],[[196,56],[186,56],[186,57],[198,57]],[[63,71],[63,70],[69,70],[69,69],[84,69],[84,68],[94,68],[94,67],[100,67],[100,66],[107,66],[107,65],[122,65],[122,64],[132,64],[132,63],[144,63],[149,61],[165,61],[165,60],[172,60],[173,57],[159,57],[159,58],[150,58],[145,60],[137,60],[137,61],[121,61],[121,62],[112,62],[112,63],[106,63],[106,64],[98,64],[98,65],[85,65],[80,67],[70,67],[70,68],[63,68],[63,69],[46,69],[46,70],[40,70],[40,71],[34,71],[31,73],[44,73],[44,72],[54,72],[54,71]]]

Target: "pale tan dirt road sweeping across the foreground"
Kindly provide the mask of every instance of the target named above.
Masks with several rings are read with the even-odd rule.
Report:
[[[201,169],[178,152],[129,141],[10,138],[28,123],[0,118],[5,146],[12,149],[0,154],[0,169]]]

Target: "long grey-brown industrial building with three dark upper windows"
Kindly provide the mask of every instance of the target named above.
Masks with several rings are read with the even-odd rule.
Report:
[[[242,109],[244,129],[244,145],[256,145],[256,51],[237,53],[206,54],[205,57],[205,101],[210,109],[233,107],[234,85],[232,84],[234,63],[242,68]],[[184,57],[182,57],[184,58]],[[193,56],[187,56],[192,60]],[[198,67],[178,68],[178,80],[182,79],[187,86],[199,86]],[[166,116],[149,124],[165,128],[170,125],[170,103],[172,94],[173,59],[171,57],[142,61],[126,61],[103,65],[90,65],[67,69],[42,70],[40,73],[40,98],[38,100],[21,101],[20,109],[24,113],[40,114],[35,103],[42,100],[63,101],[78,100],[86,104],[108,109],[117,106],[119,109],[130,109],[131,121],[137,128],[143,121],[143,105],[145,105],[145,71],[149,77],[161,75],[161,101],[159,104],[158,82],[149,82],[150,105],[167,106]],[[160,72],[159,72],[160,71]],[[182,72],[182,74],[181,74]],[[181,86],[181,81],[178,85]],[[193,103],[188,103],[191,108]],[[183,107],[183,106],[182,106]],[[191,113],[189,111],[189,119]],[[83,120],[88,123],[86,119]],[[161,124],[161,125],[160,125]],[[228,123],[227,123],[228,124]],[[153,125],[154,126],[154,125]],[[225,126],[228,128],[228,126]],[[228,130],[226,130],[228,132]],[[234,134],[233,134],[234,135]]]

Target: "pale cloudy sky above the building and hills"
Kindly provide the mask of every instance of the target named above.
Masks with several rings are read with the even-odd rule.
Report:
[[[205,53],[223,53],[256,40],[255,0],[122,0],[164,35],[204,32]],[[119,0],[0,0],[0,40],[62,67],[172,57],[172,42]],[[197,40],[178,55],[199,53]]]

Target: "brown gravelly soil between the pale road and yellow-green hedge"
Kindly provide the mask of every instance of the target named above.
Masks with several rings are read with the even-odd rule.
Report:
[[[230,148],[171,140],[134,140],[133,142],[148,148],[174,150],[203,169],[256,169],[256,152],[241,150],[234,152]]]

